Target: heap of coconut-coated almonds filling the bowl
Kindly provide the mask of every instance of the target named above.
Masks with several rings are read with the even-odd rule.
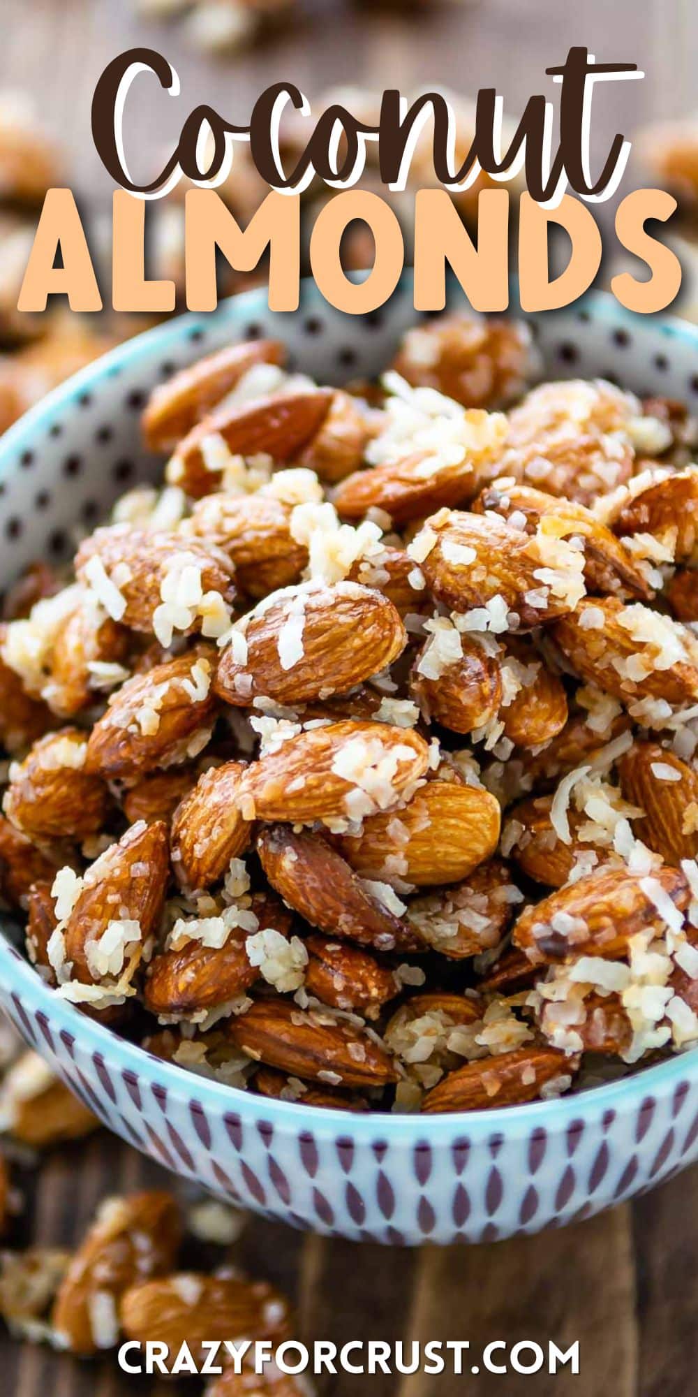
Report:
[[[349,1111],[698,1042],[695,429],[536,370],[451,316],[380,383],[257,339],[154,393],[163,488],[0,631],[0,879],[56,995]]]

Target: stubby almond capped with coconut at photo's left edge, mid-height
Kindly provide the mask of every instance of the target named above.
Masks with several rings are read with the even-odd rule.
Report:
[[[38,838],[85,840],[103,828],[112,806],[105,782],[85,770],[87,740],[80,728],[63,728],[35,742],[13,767],[3,800],[7,817]]]

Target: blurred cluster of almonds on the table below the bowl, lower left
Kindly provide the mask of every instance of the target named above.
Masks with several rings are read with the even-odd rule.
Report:
[[[197,1236],[223,1242],[237,1220],[211,1200],[191,1208],[187,1222]],[[236,1373],[223,1345],[267,1340],[278,1347],[292,1334],[289,1303],[272,1285],[230,1264],[214,1271],[177,1268],[183,1234],[181,1210],[170,1193],[105,1199],[74,1255],[38,1246],[0,1252],[0,1315],[14,1336],[80,1358],[131,1340],[142,1352],[148,1344],[168,1345],[173,1363],[187,1344],[201,1368],[218,1343],[215,1363],[223,1373],[208,1384],[207,1397],[246,1391],[309,1397],[306,1380],[285,1376],[274,1362],[255,1376],[253,1348]]]

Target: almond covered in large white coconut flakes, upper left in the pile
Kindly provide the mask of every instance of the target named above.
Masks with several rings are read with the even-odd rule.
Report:
[[[130,524],[95,529],[78,548],[75,571],[114,620],[145,634],[155,630],[159,640],[169,629],[165,645],[172,640],[172,620],[180,631],[219,634],[207,626],[208,613],[235,598],[233,564],[222,549],[195,536],[148,534]]]

